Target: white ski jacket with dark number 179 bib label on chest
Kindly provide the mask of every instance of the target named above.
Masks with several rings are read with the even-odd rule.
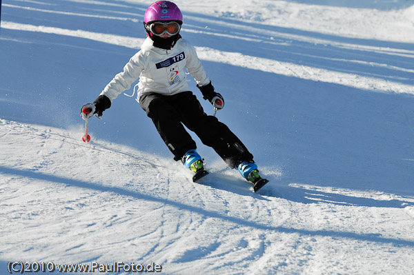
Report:
[[[157,48],[152,43],[150,38],[144,41],[141,50],[125,65],[124,72],[117,74],[101,95],[108,96],[112,102],[121,92],[130,89],[138,78],[137,101],[142,94],[150,92],[165,95],[186,92],[189,88],[184,68],[198,85],[210,83],[195,48],[186,39],[179,39],[171,50]]]

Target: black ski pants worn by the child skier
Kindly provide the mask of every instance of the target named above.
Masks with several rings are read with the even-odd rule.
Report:
[[[179,161],[188,150],[197,148],[184,125],[195,132],[202,143],[213,147],[228,166],[236,167],[242,161],[253,161],[253,155],[242,141],[215,116],[208,116],[192,92],[170,96],[143,94],[139,103],[174,154],[175,161]]]

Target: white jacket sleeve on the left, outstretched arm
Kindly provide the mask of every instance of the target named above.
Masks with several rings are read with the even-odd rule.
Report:
[[[142,70],[144,70],[145,59],[141,52],[137,52],[130,61],[126,63],[124,72],[119,72],[115,77],[106,85],[100,95],[107,96],[108,99],[116,99],[121,92],[130,89],[132,83],[137,81]]]

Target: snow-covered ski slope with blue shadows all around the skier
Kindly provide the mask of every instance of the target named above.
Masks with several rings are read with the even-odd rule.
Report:
[[[212,175],[191,183],[128,96],[81,141],[79,108],[139,50],[150,2],[3,0],[0,274],[413,274],[413,1],[176,3],[217,116],[271,182],[254,194],[195,137]]]

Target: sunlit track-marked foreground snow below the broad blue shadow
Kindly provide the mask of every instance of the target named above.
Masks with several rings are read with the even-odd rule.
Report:
[[[403,263],[413,255],[413,198],[295,184],[253,194],[233,171],[213,170],[213,183],[194,184],[177,163],[105,141],[83,144],[79,130],[6,120],[0,130],[1,223],[13,225],[1,229],[4,261],[122,259],[155,261],[168,274],[322,274],[341,270],[335,259],[346,257],[353,271],[377,258],[411,272]],[[314,203],[289,200],[295,189]]]

